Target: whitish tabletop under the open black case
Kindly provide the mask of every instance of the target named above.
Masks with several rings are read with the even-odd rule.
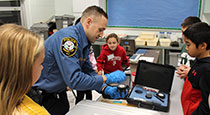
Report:
[[[184,80],[176,77],[175,74],[170,94],[169,112],[83,100],[72,108],[67,115],[182,115],[180,97],[183,83]]]

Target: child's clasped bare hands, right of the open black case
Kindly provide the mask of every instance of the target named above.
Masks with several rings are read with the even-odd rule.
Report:
[[[178,74],[177,77],[180,77],[181,79],[186,78],[190,69],[189,66],[180,65],[176,72]]]

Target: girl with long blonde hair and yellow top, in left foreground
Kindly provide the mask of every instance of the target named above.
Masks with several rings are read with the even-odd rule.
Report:
[[[43,69],[43,42],[22,26],[0,26],[0,115],[49,115],[26,95]]]

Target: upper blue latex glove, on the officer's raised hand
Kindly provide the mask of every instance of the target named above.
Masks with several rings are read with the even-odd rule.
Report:
[[[117,70],[109,74],[105,74],[107,80],[106,83],[120,83],[125,80],[126,75],[124,72]]]

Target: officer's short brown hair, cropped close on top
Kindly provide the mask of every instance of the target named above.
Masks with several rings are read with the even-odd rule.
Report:
[[[90,6],[82,13],[81,20],[89,17],[89,16],[101,16],[103,15],[106,19],[108,19],[107,13],[98,6]]]

